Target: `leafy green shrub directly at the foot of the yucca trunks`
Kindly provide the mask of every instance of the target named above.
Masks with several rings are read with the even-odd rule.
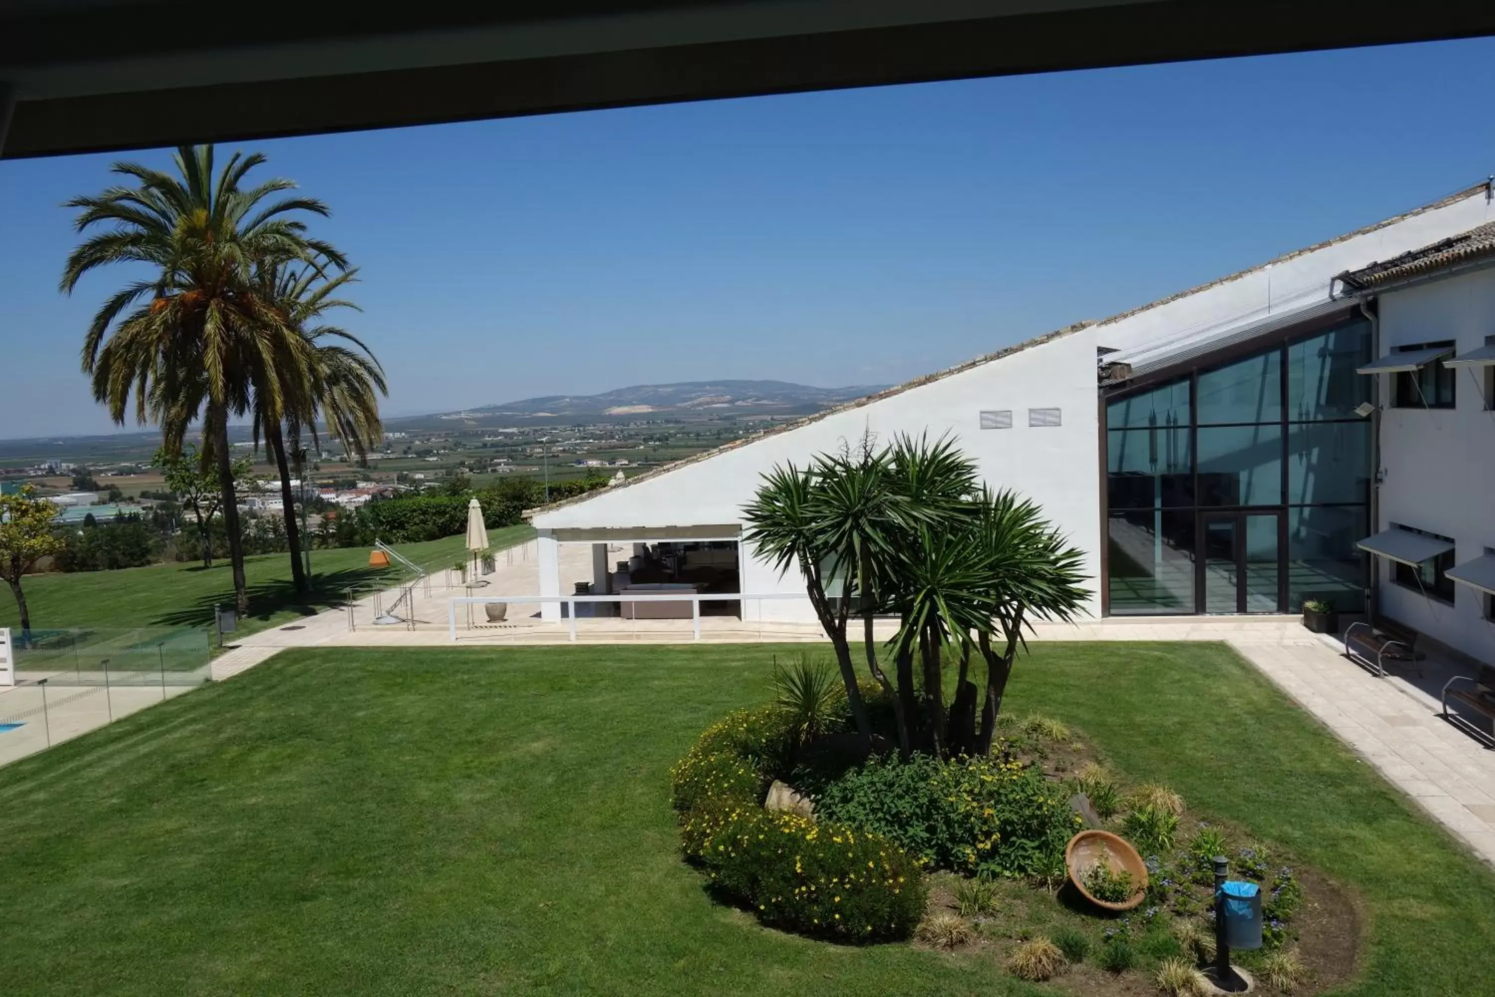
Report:
[[[994,758],[873,758],[827,785],[815,806],[964,874],[1033,874],[1079,827],[1042,773]]]

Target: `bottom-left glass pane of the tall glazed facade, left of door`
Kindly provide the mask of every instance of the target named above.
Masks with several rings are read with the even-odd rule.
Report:
[[[1111,613],[1156,616],[1195,611],[1193,511],[1114,513],[1106,567]]]

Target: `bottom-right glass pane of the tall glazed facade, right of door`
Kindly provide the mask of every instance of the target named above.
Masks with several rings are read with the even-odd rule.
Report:
[[[1341,613],[1363,610],[1365,555],[1356,541],[1366,534],[1363,505],[1287,510],[1287,608],[1322,599]]]

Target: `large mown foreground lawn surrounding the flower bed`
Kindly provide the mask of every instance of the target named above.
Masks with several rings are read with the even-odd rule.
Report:
[[[1055,993],[706,897],[668,768],[797,650],[292,652],[0,768],[0,993]],[[1495,876],[1223,646],[1038,644],[1011,706],[1351,885],[1341,993],[1491,993]]]

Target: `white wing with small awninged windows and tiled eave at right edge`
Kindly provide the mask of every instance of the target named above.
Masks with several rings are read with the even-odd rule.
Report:
[[[1343,284],[1377,317],[1377,604],[1495,664],[1495,224]]]

